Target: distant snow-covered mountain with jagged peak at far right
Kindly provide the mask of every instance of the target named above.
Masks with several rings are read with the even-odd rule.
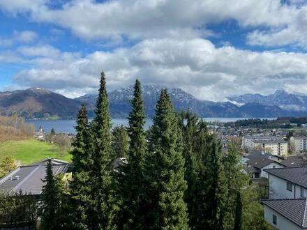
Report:
[[[301,93],[288,93],[284,89],[279,89],[273,94],[244,94],[227,97],[232,102],[239,104],[257,103],[260,105],[275,105],[280,109],[292,112],[307,112],[307,95]]]

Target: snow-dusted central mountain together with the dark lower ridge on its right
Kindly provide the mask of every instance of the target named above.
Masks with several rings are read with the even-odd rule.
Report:
[[[153,85],[142,86],[145,111],[147,116],[155,114],[156,101],[160,87]],[[182,89],[169,89],[170,98],[177,111],[190,109],[201,117],[276,117],[298,116],[296,112],[289,112],[275,105],[261,105],[251,102],[244,106],[234,105],[232,102],[211,102],[198,100]],[[109,93],[110,112],[114,118],[126,118],[130,112],[129,100],[133,96],[133,86],[117,89]],[[91,108],[96,103],[97,94],[87,94],[75,100],[87,103]]]

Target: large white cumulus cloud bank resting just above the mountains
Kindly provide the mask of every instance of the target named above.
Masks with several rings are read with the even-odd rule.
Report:
[[[201,38],[149,39],[130,48],[86,56],[37,55],[31,63],[33,68],[15,75],[14,84],[45,87],[70,97],[96,91],[101,70],[106,72],[109,90],[139,78],[143,84],[180,87],[204,100],[224,100],[238,91],[298,89],[306,84],[307,76],[306,54],[217,48]]]

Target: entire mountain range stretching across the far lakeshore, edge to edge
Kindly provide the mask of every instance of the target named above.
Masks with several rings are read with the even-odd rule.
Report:
[[[147,116],[155,113],[160,87],[143,85],[143,99]],[[201,117],[278,117],[306,116],[307,95],[278,90],[271,95],[232,95],[227,102],[199,100],[182,89],[169,89],[170,98],[177,111],[189,109]],[[130,112],[129,100],[133,86],[110,92],[110,113],[113,118],[126,118]],[[93,116],[97,94],[86,94],[80,98],[65,96],[46,89],[31,88],[0,92],[0,115],[18,113],[24,118],[74,118],[80,103],[87,105],[89,116]]]

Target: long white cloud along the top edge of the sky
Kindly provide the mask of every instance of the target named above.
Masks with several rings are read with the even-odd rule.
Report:
[[[56,9],[50,8],[52,1],[29,1],[0,0],[0,8],[10,13],[30,13],[32,20],[63,26],[84,39],[104,38],[112,42],[120,42],[123,36],[132,39],[208,36],[212,32],[206,29],[207,24],[233,19],[241,26],[268,26],[272,30],[252,33],[248,41],[255,45],[273,45],[269,39],[260,38],[263,33],[274,34],[276,29],[291,28],[298,22],[306,24],[307,18],[307,6],[297,1],[289,5],[280,0],[113,0],[103,3],[73,0]],[[305,29],[296,29],[304,36]],[[284,36],[283,43],[288,43],[289,39],[289,34]]]

